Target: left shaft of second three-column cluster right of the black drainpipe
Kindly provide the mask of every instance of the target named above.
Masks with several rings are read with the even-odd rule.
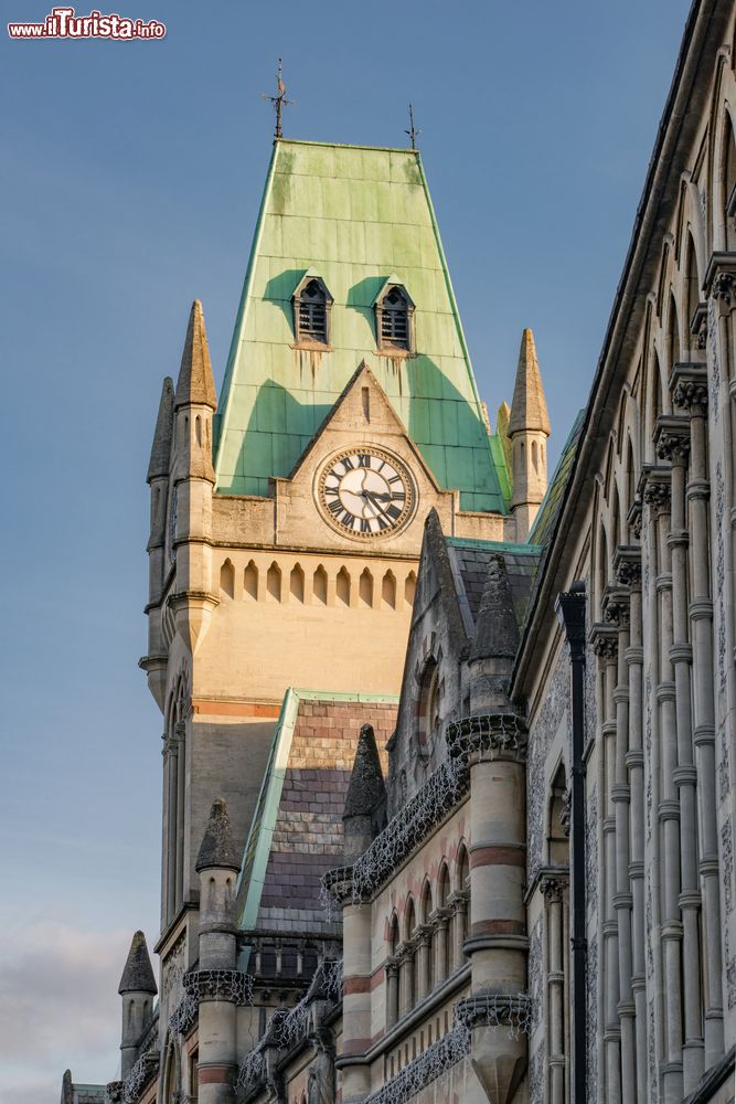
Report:
[[[682,923],[680,917],[680,802],[675,783],[678,740],[675,688],[670,650],[672,647],[672,573],[668,535],[670,531],[670,473],[650,468],[643,487],[649,507],[657,554],[659,677],[657,684],[658,732],[660,740],[660,803],[658,818],[662,856],[662,981],[664,1008],[664,1055],[661,1064],[663,1104],[682,1100]]]

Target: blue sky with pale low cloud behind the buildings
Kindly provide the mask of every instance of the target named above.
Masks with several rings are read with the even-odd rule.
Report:
[[[3,17],[50,7],[7,0]],[[222,380],[278,55],[287,137],[402,145],[414,103],[481,394],[511,399],[531,326],[554,458],[588,393],[686,8],[125,0],[113,9],[167,38],[1,40],[2,1104],[55,1102],[66,1064],[115,1074],[127,943],[139,926],[156,938],[145,474],[195,297]]]

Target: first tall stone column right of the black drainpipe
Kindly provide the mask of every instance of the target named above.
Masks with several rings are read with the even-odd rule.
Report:
[[[596,624],[590,631],[593,650],[604,669],[601,731],[604,737],[604,847],[602,904],[604,917],[604,1057],[607,1104],[621,1104],[621,1029],[618,1017],[619,954],[618,920],[616,916],[616,720],[614,688],[617,678],[618,633],[611,625]]]

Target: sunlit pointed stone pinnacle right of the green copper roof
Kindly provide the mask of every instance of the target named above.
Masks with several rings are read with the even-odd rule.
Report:
[[[511,509],[516,540],[524,541],[547,489],[550,415],[536,359],[534,335],[524,330],[509,420],[513,466]]]

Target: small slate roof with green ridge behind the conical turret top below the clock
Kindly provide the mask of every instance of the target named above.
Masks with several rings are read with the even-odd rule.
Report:
[[[450,550],[450,558],[457,565],[456,577],[459,578],[461,586],[458,599],[461,606],[467,604],[473,627],[478,620],[491,560],[499,555],[503,558],[514,618],[521,631],[542,549],[536,544],[466,540],[461,537],[446,537],[445,542]]]

